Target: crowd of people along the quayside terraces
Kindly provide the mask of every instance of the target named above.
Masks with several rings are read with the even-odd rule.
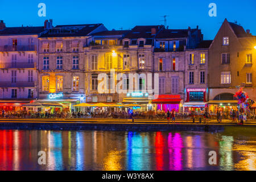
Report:
[[[58,110],[53,113],[51,110],[46,111],[32,111],[32,110],[20,110],[20,111],[5,111],[0,110],[1,118],[120,118],[120,119],[167,119],[170,121],[175,121],[177,119],[199,119],[204,118],[205,121],[209,119],[217,119],[221,122],[222,119],[229,119],[230,122],[238,122],[241,120],[242,114],[237,109],[232,109],[227,115],[226,112],[221,109],[217,109],[217,113],[214,114],[212,111],[203,110],[200,112],[189,111],[189,112],[179,112],[179,111],[138,111],[138,110],[128,110],[128,111],[110,111],[110,110],[94,110],[94,111],[73,111],[69,110]],[[250,118],[255,119],[256,115],[250,115]]]

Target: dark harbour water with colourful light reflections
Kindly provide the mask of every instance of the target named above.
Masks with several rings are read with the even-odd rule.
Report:
[[[38,152],[46,164],[38,164]],[[208,163],[216,151],[217,166]],[[256,170],[256,137],[221,133],[0,130],[0,170]]]

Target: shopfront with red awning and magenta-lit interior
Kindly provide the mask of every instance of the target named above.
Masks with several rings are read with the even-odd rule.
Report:
[[[156,111],[180,111],[180,101],[180,95],[159,95],[155,96],[155,99],[152,100],[152,104],[156,105]]]

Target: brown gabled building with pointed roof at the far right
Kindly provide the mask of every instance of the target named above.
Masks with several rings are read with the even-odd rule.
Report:
[[[209,104],[213,111],[216,106],[236,106],[233,95],[239,86],[256,99],[255,45],[250,30],[224,20],[209,47]]]

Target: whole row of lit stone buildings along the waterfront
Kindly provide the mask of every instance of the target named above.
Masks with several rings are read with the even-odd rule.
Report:
[[[255,57],[256,36],[226,19],[214,40],[203,40],[198,26],[110,31],[104,24],[53,26],[49,19],[42,27],[7,27],[1,20],[0,110],[37,101],[70,110],[79,102],[138,102],[146,109],[184,111],[208,102],[214,111],[236,105],[238,86],[256,100]],[[120,80],[126,93],[113,91],[117,79],[110,71],[126,76]],[[109,75],[108,92],[98,92],[100,73]],[[130,73],[151,74],[152,81],[139,77],[131,90]],[[159,88],[157,96],[147,92],[150,86]]]

